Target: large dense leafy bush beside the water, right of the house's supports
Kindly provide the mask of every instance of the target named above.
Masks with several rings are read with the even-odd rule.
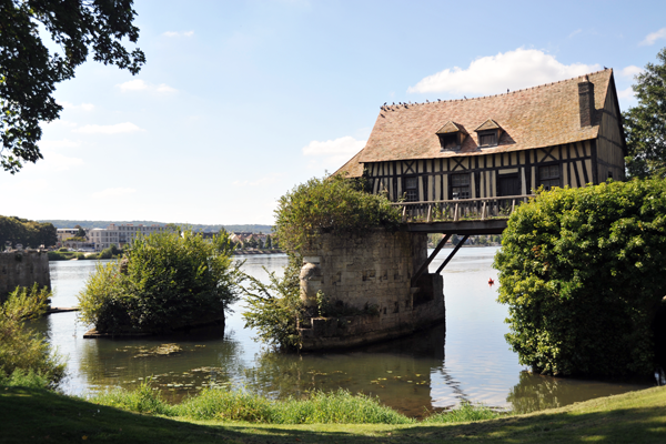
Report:
[[[649,374],[650,323],[666,290],[666,182],[543,192],[512,214],[494,266],[521,364]]]

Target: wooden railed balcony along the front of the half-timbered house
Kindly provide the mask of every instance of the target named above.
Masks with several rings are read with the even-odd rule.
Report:
[[[408,231],[451,234],[501,234],[506,221],[534,194],[447,201],[395,202]]]

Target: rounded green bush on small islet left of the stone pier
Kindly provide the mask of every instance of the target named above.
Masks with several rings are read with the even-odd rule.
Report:
[[[224,317],[242,273],[229,234],[186,230],[141,236],[122,261],[98,263],[79,294],[83,322],[101,333],[169,332]]]

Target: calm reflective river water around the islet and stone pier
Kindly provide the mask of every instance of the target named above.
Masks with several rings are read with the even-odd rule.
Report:
[[[376,395],[410,416],[462,401],[527,412],[645,389],[649,382],[602,382],[529,374],[504,340],[507,309],[496,302],[492,262],[497,248],[463,248],[444,270],[446,324],[414,336],[344,352],[279,353],[253,341],[238,302],[224,329],[123,340],[84,340],[77,313],[39,321],[68,364],[62,390],[85,395],[132,389],[153,376],[172,401],[203,386],[246,389],[273,398],[314,389]],[[451,250],[431,264],[436,270]],[[262,281],[281,273],[285,255],[244,256],[243,270]],[[75,306],[93,261],[51,262],[53,306]]]

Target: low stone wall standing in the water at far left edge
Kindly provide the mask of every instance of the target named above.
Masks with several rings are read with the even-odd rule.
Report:
[[[0,253],[0,296],[17,286],[51,287],[49,255],[46,251],[13,251]]]

